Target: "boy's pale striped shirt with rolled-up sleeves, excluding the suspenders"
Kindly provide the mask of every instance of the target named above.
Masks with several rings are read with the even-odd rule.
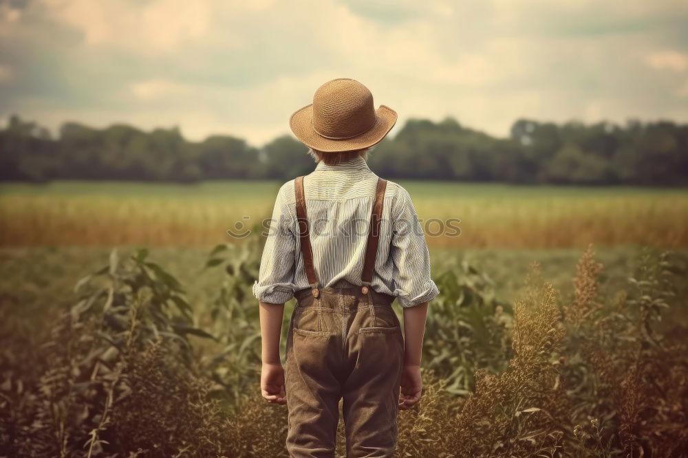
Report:
[[[303,178],[314,268],[321,287],[332,287],[341,280],[361,285],[377,180],[363,157],[336,165],[319,162]],[[265,303],[282,304],[294,291],[310,288],[295,203],[292,179],[277,194],[259,279],[253,285],[253,294]],[[411,197],[390,181],[370,286],[396,296],[402,307],[429,302],[439,294],[430,276],[427,243]]]

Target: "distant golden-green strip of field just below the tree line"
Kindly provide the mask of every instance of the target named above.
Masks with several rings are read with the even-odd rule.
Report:
[[[688,190],[400,182],[432,247],[688,246]],[[0,184],[3,246],[198,246],[270,216],[277,182]],[[248,217],[248,219],[247,219]],[[437,220],[460,219],[461,235]],[[434,220],[434,221],[431,221]]]

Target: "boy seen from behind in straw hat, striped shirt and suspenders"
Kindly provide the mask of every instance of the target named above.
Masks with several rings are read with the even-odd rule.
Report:
[[[347,457],[389,457],[398,409],[420,399],[427,303],[438,289],[409,194],[365,162],[396,118],[374,109],[364,85],[337,78],[290,119],[318,164],[279,190],[253,292],[261,392],[287,404],[291,457],[334,457],[341,399]],[[283,369],[283,305],[294,296]]]

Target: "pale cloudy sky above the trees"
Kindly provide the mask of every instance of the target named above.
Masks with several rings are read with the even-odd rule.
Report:
[[[327,80],[408,118],[688,121],[685,0],[0,0],[0,116],[259,146]],[[392,135],[394,135],[392,131]]]

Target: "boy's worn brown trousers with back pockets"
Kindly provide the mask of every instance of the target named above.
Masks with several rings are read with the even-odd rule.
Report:
[[[404,358],[394,297],[354,285],[295,296],[285,369],[290,457],[334,457],[341,399],[347,457],[390,457]]]

